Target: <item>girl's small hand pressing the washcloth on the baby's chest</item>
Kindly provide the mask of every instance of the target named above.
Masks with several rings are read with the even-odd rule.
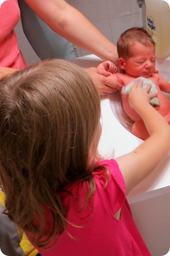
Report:
[[[129,93],[129,105],[137,112],[143,107],[146,107],[147,104],[150,105],[150,99],[157,96],[157,93],[149,94],[149,90],[151,88],[150,84],[145,88],[142,88],[142,84],[142,80],[138,81],[138,83],[131,87]]]

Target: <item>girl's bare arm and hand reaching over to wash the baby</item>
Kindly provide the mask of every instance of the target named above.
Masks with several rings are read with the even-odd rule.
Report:
[[[150,137],[138,148],[116,160],[125,180],[126,194],[154,170],[170,151],[170,126],[149,100],[156,94],[148,94],[150,86],[142,89],[142,82],[131,88],[129,104],[142,117]]]

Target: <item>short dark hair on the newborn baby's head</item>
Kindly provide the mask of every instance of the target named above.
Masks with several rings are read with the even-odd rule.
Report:
[[[153,38],[147,33],[143,27],[132,27],[131,29],[125,30],[118,39],[117,42],[117,52],[119,58],[129,58],[131,57],[131,47],[135,42],[140,42],[140,44],[155,47],[155,42]]]

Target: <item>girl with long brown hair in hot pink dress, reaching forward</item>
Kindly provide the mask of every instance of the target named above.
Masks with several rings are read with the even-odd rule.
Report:
[[[149,90],[133,86],[129,104],[150,137],[104,160],[97,154],[100,100],[84,70],[53,59],[1,80],[6,211],[43,256],[151,255],[126,201],[170,150],[169,125],[149,104]]]

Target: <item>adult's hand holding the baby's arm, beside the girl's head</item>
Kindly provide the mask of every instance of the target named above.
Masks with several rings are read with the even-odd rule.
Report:
[[[122,88],[121,84],[117,83],[117,81],[112,80],[110,83],[107,80],[107,77],[110,76],[111,73],[104,69],[89,67],[86,69],[86,72],[88,72],[89,76],[91,76],[100,96],[104,96],[109,93],[115,93]]]

